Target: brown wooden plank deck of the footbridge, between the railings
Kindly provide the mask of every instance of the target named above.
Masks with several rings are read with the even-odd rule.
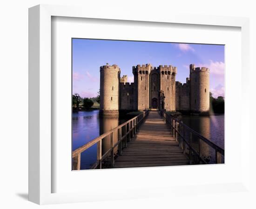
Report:
[[[182,153],[158,112],[150,111],[138,133],[115,160],[114,168],[188,164],[188,158]]]

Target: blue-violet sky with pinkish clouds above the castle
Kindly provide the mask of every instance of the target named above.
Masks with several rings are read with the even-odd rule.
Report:
[[[142,41],[72,39],[73,94],[96,97],[100,89],[100,66],[116,64],[121,76],[133,82],[132,66],[150,63],[177,67],[176,81],[186,83],[189,65],[210,69],[213,97],[224,97],[224,45]]]

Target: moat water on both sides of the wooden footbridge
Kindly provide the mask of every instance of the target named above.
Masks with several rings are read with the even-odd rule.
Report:
[[[120,118],[99,117],[99,110],[73,112],[73,150],[132,117],[134,116]],[[210,117],[183,116],[183,122],[202,136],[224,148],[224,115]],[[97,144],[94,144],[81,153],[81,170],[90,168],[90,165],[96,161],[96,148]],[[212,152],[212,150],[204,148],[203,145],[201,149],[206,156]]]

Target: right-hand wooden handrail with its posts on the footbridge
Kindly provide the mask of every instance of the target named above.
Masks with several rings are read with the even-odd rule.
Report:
[[[215,153],[216,154],[216,163],[221,163],[221,155],[224,156],[224,150],[221,147],[219,147],[215,143],[211,142],[209,139],[203,137],[201,134],[197,133],[196,131],[191,129],[186,124],[182,123],[181,120],[178,120],[178,119],[174,118],[173,116],[166,114],[163,111],[161,111],[160,114],[163,117],[163,119],[165,121],[167,121],[168,124],[171,126],[170,129],[171,129],[174,137],[176,138],[176,140],[179,141],[179,144],[181,143],[181,141],[178,140],[178,136],[180,136],[182,138],[182,141],[183,141],[183,152],[185,152],[185,144],[187,144],[189,146],[189,158],[191,157],[191,152],[193,152],[195,154],[195,156],[198,157],[199,163],[200,162],[207,163],[200,156],[200,140],[202,140],[203,142],[205,142],[206,144],[208,144],[211,148],[213,148],[215,150],[215,152],[216,152]],[[166,117],[166,116],[168,116],[171,119],[171,121],[169,121],[168,117]],[[183,134],[183,136],[182,136],[182,133],[178,130],[179,128],[181,129],[181,126],[182,126],[183,133],[184,133],[184,129],[186,129],[186,130],[188,130],[190,132],[189,142],[186,140],[185,135]],[[198,152],[191,145],[192,134],[196,135],[196,137],[199,138],[199,150],[198,150]]]

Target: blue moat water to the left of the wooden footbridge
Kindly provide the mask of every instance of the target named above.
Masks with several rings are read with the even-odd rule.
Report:
[[[101,134],[135,116],[125,118],[99,117],[99,110],[73,112],[72,149],[75,150]],[[114,134],[117,139],[117,133]],[[114,140],[115,141],[115,140]],[[109,149],[110,140],[102,141],[102,152]],[[97,160],[97,144],[81,153],[81,169],[89,169]]]

